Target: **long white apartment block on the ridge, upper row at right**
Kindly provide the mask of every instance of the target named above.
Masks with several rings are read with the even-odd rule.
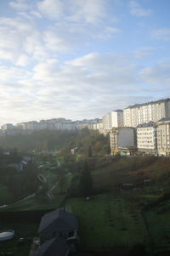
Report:
[[[137,127],[144,122],[157,122],[170,117],[170,99],[136,104],[123,110],[123,122],[126,127]]]

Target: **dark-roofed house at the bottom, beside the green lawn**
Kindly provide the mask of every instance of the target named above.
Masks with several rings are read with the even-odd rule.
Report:
[[[41,243],[54,237],[74,241],[77,240],[77,229],[77,217],[59,208],[42,217],[38,234]]]

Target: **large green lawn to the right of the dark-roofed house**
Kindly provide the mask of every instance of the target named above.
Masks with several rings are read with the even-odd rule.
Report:
[[[103,194],[90,201],[73,198],[66,203],[66,208],[77,215],[83,249],[149,242],[138,208],[121,196]]]

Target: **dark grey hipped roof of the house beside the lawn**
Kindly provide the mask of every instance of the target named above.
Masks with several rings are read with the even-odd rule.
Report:
[[[61,208],[53,212],[46,213],[39,225],[38,233],[48,228],[49,225],[55,224],[57,230],[77,230],[77,217],[72,213],[67,213]],[[56,228],[55,228],[56,230]]]

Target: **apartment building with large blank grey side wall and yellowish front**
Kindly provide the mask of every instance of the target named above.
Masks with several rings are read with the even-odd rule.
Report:
[[[134,128],[112,128],[110,132],[111,155],[131,155],[136,150]]]

